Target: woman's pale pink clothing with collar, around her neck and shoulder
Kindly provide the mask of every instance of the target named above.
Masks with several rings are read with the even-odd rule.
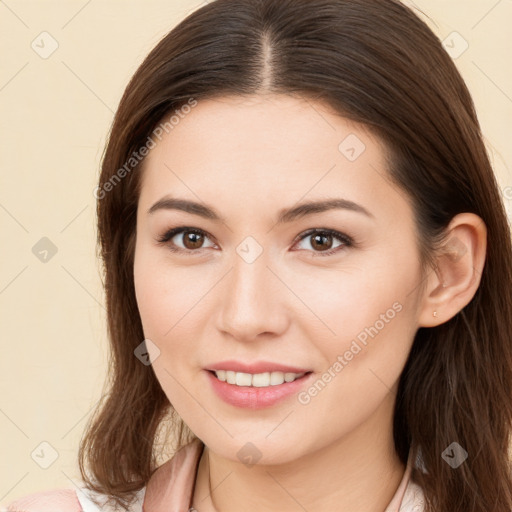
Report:
[[[194,512],[192,496],[203,443],[195,439],[160,466],[146,487],[137,493],[130,512]],[[410,480],[409,457],[404,476],[384,512],[423,512],[421,488]],[[93,500],[100,502],[99,506]],[[81,487],[39,492],[10,503],[0,512],[113,512],[105,496]],[[199,510],[197,512],[200,512]]]

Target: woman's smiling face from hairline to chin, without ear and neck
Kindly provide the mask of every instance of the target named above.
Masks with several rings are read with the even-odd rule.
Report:
[[[174,408],[232,460],[389,432],[422,276],[384,147],[290,96],[200,101],[167,128],[144,164],[134,277]]]

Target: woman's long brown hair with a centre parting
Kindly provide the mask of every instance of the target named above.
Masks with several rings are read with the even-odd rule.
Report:
[[[133,282],[142,165],[133,155],[191,98],[260,92],[323,101],[381,137],[390,178],[413,204],[425,270],[456,214],[485,222],[475,296],[416,333],[394,441],[404,464],[420,450],[426,472],[412,478],[427,512],[511,510],[510,228],[466,85],[439,39],[397,0],[216,0],[166,35],[132,77],[96,190],[111,373],[80,446],[84,481],[126,505],[157,467],[160,427],[174,430],[176,449],[194,438],[134,356],[144,334]],[[454,441],[469,454],[457,469],[441,456]]]

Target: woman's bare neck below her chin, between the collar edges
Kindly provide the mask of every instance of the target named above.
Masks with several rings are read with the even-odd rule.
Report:
[[[205,446],[194,508],[198,512],[385,511],[405,466],[394,449],[392,408],[381,409],[349,435],[284,464],[247,467]],[[388,419],[385,423],[383,416]]]

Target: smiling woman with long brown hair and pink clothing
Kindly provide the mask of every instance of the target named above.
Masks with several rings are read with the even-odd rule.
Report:
[[[84,486],[8,510],[511,509],[510,229],[408,8],[205,5],[130,81],[95,195]]]

